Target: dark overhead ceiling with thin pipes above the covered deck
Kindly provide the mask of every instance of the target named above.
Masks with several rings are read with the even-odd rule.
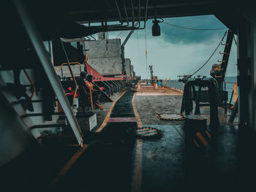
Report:
[[[238,10],[243,5],[237,2],[234,4],[229,0],[26,0],[23,2],[44,39],[56,36],[85,37],[99,31],[131,30],[136,29],[135,23],[138,22],[140,26],[137,29],[140,29],[143,28],[145,20],[154,18],[155,15],[157,18],[172,18],[213,14],[236,33],[236,25],[240,17]],[[114,26],[111,21],[116,21]],[[87,23],[86,26],[90,27],[80,23]],[[98,26],[95,26],[95,23]]]

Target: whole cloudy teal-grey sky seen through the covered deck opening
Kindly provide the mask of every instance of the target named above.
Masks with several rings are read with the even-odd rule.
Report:
[[[165,18],[165,23],[189,28],[225,28],[225,25],[214,15]],[[148,20],[146,30],[134,31],[125,45],[125,58],[131,59],[136,75],[143,79],[150,77],[148,65],[153,66],[154,75],[158,79],[177,79],[178,75],[192,74],[207,61],[227,30],[195,31],[168,26],[165,23],[159,23],[161,36],[152,37],[152,20]],[[110,39],[121,37],[121,41],[124,41],[128,33],[129,31],[109,32],[109,37]],[[223,45],[219,46],[208,64],[197,74],[209,77],[211,66],[217,64],[218,60],[222,60],[222,55],[219,52],[223,52],[224,47]],[[147,64],[146,49],[148,53]],[[237,75],[236,54],[236,45],[233,42],[226,76]]]

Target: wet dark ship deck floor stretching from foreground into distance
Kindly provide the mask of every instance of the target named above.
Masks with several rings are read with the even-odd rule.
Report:
[[[44,184],[34,179],[35,186],[41,184],[42,191],[256,191],[255,134],[238,131],[237,123],[227,123],[230,112],[225,115],[219,109],[221,126],[211,146],[206,150],[188,147],[184,121],[157,118],[158,113],[179,112],[181,97],[172,90],[128,90],[113,107],[110,119],[114,120],[91,134],[85,150],[64,145],[45,148],[44,154],[52,155],[45,162],[52,164],[40,165],[50,172],[39,174]],[[207,107],[203,108],[202,114],[208,116]],[[107,110],[99,112],[98,124],[105,114]],[[162,137],[136,138],[138,116],[143,126],[162,131]],[[65,166],[64,174],[58,174]],[[24,180],[20,179],[20,184]]]

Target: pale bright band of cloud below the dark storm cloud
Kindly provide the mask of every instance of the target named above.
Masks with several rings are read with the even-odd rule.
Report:
[[[161,79],[177,78],[178,75],[192,74],[206,62],[219,44],[219,39],[209,39],[209,41],[212,43],[181,45],[164,42],[162,39],[148,39],[148,65],[153,65],[154,75]],[[131,59],[137,75],[147,78],[145,39],[139,39],[139,49],[140,51],[138,51],[136,37],[132,37],[125,46],[125,57]],[[224,46],[219,47],[213,58],[197,74],[209,76],[212,64],[216,64],[218,59],[222,60],[222,55],[219,55],[219,51],[223,52],[223,49]],[[236,76],[236,46],[232,47],[231,52],[227,76]]]

